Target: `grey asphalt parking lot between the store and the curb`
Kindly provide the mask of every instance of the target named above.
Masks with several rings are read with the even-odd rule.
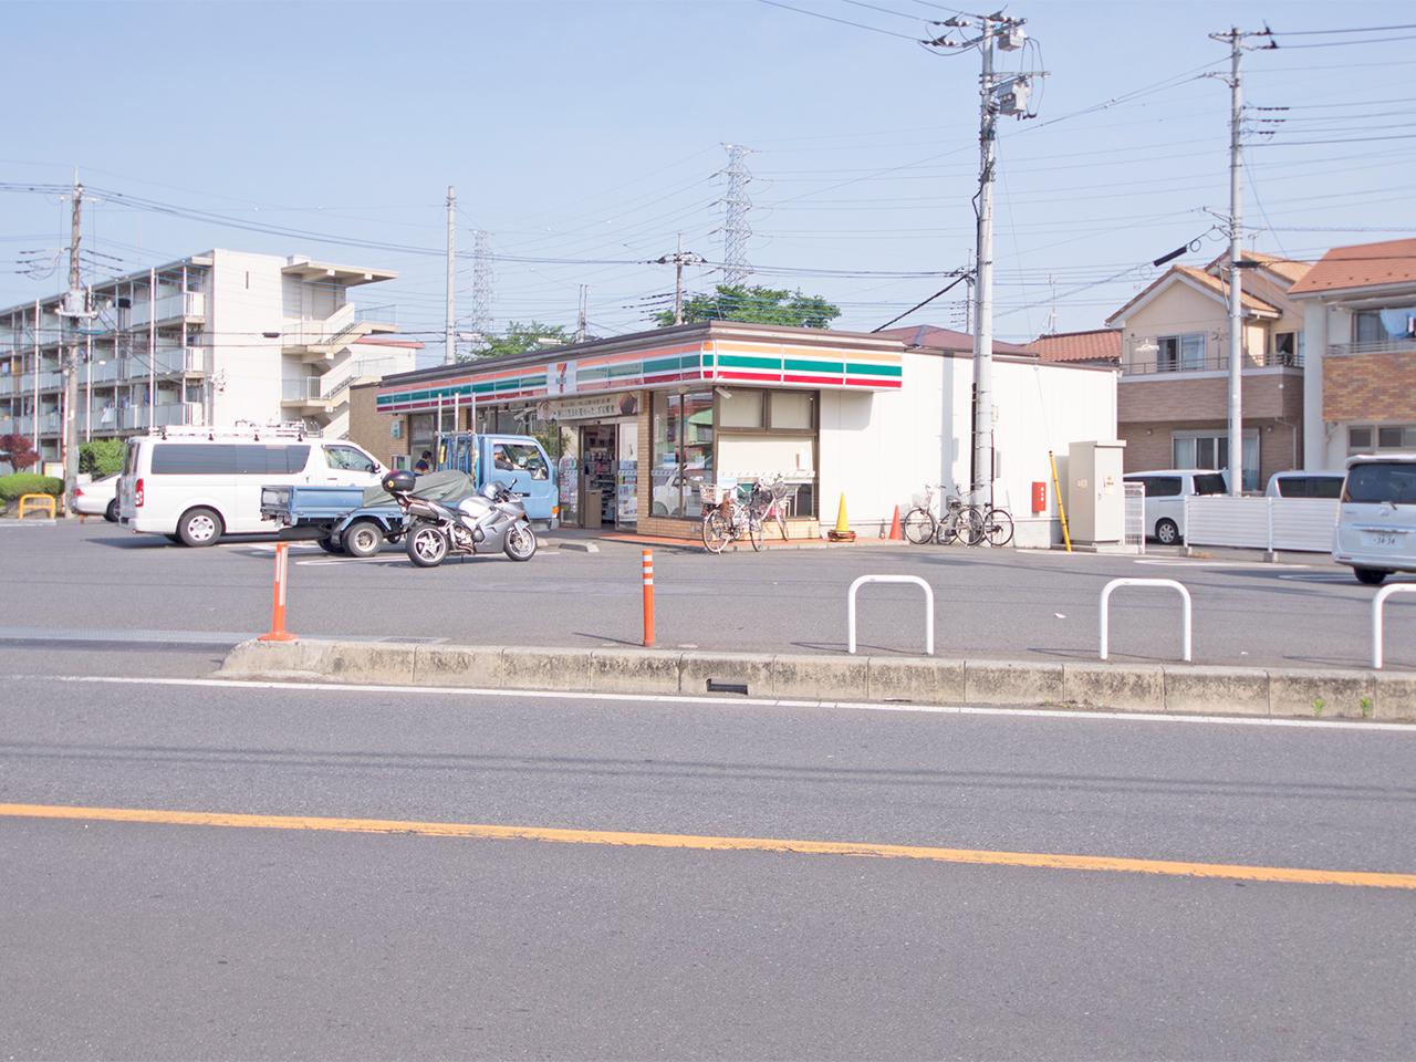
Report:
[[[306,637],[640,644],[643,547],[595,538],[598,551],[585,552],[568,548],[572,541],[585,537],[548,535],[527,564],[489,555],[426,571],[392,547],[358,561],[297,542],[290,547],[286,627]],[[10,534],[3,545],[10,627],[208,634],[270,627],[270,538],[187,549],[112,524],[61,521]],[[1085,661],[1097,658],[1102,588],[1113,578],[1141,576],[1178,579],[1189,589],[1195,663],[1369,663],[1374,590],[1347,569],[1324,556],[1273,564],[1257,554],[1208,552],[1187,558],[1178,551],[1126,556],[860,545],[715,556],[691,547],[654,547],[656,636],[663,649],[841,656],[851,581],[895,573],[920,576],[933,588],[939,657]],[[1391,668],[1416,667],[1410,603],[1393,599],[1388,606]],[[1180,658],[1174,593],[1119,590],[1110,612],[1113,660]],[[918,588],[864,588],[857,620],[862,654],[923,651]],[[139,653],[101,651],[110,660]],[[198,656],[191,650],[176,658]]]

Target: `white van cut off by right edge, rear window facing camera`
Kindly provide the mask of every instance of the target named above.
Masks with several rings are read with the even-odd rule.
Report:
[[[1332,559],[1369,586],[1416,572],[1416,455],[1347,459]]]

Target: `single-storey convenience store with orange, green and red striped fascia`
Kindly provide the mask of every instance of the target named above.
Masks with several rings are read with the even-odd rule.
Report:
[[[1045,419],[1034,406],[1066,377],[1100,401],[1079,401],[1069,385],[1054,421],[1089,409],[1096,428],[1068,438],[1114,439],[1114,372],[1045,365],[1044,388],[1032,382],[1035,358],[1011,361],[1029,408],[1000,428]],[[1000,396],[1008,362],[994,361]],[[898,337],[708,321],[385,377],[377,415],[351,423],[378,456],[392,439],[394,464],[473,423],[477,433],[535,435],[559,463],[569,527],[697,538],[698,483],[782,476],[792,538],[834,527],[843,498],[851,528],[878,535],[925,483],[969,481],[971,375],[970,358]],[[1037,450],[1041,464],[1017,462],[1014,477],[1045,479],[1048,449]],[[1027,501],[1021,479],[1014,497]]]

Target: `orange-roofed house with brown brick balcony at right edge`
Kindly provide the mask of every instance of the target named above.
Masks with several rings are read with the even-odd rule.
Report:
[[[1416,453],[1416,239],[1332,248],[1290,296],[1306,306],[1306,467]]]

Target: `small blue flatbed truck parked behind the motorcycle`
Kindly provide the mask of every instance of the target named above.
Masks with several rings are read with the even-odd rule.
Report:
[[[477,487],[506,483],[521,497],[532,527],[561,525],[555,464],[530,435],[445,435],[435,456],[438,472],[419,476],[415,494],[426,489],[440,497],[466,487],[467,477]],[[381,487],[265,486],[261,515],[276,523],[280,538],[313,538],[327,552],[351,556],[374,556],[404,532],[402,510]]]

